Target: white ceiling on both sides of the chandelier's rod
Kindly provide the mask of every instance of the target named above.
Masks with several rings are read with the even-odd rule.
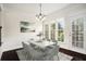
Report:
[[[58,11],[64,7],[69,5],[69,3],[42,3],[41,9],[42,13],[48,15],[54,11]],[[27,12],[29,14],[39,13],[39,3],[4,3],[4,10],[12,10],[19,12]]]

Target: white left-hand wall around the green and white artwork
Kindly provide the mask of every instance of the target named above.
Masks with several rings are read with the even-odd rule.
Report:
[[[40,24],[37,24],[35,28],[36,33],[20,33],[20,22],[30,21],[30,16],[22,12],[4,12],[3,16],[3,30],[2,30],[2,49],[3,51],[22,48],[22,41],[27,41],[32,37],[36,38],[36,34],[41,30]]]

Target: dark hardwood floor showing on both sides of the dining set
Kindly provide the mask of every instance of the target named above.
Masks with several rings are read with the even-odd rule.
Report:
[[[19,55],[16,53],[17,50],[11,50],[11,51],[3,52],[1,56],[1,61],[20,61]],[[59,51],[73,56],[71,61],[86,61],[86,54],[77,53],[77,52],[66,50],[63,48],[60,48]]]

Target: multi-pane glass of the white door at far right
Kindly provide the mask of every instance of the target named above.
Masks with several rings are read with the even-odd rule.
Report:
[[[83,48],[84,42],[84,20],[76,18],[72,22],[72,46]]]

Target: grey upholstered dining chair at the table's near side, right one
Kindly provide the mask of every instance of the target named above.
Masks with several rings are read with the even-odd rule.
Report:
[[[46,54],[45,54],[45,60],[46,61],[53,61],[54,56],[59,60],[59,46],[49,46],[47,47],[47,51],[46,51]]]

